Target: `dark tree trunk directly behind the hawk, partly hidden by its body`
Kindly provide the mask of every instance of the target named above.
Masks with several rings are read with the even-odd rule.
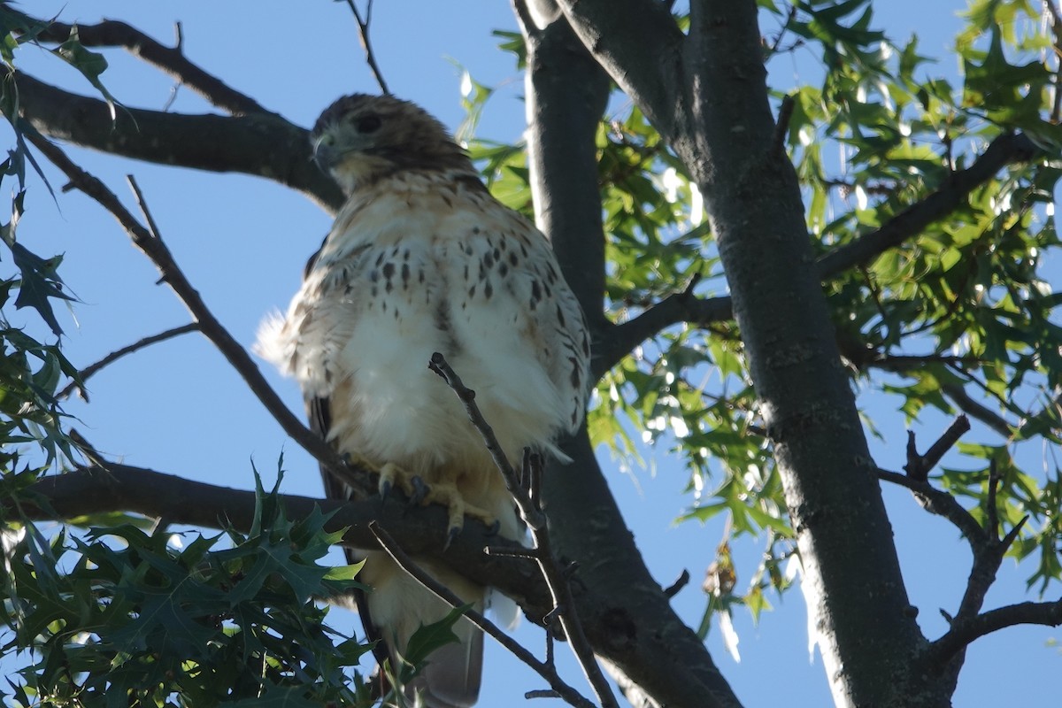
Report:
[[[604,238],[595,136],[609,79],[563,17],[538,3],[528,27],[529,162],[539,227],[587,313],[603,315]],[[552,21],[550,17],[552,15]],[[525,21],[533,23],[530,17]],[[738,706],[704,644],[647,570],[594,456],[585,430],[566,441],[573,462],[544,476],[544,506],[563,557],[582,562],[573,591],[596,652],[637,705]],[[587,593],[581,588],[593,588]],[[592,600],[593,597],[593,600]]]

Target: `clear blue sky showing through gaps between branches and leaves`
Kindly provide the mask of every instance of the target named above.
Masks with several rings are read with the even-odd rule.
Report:
[[[296,5],[297,11],[293,10]],[[957,70],[948,51],[959,24],[956,13],[964,3],[904,0],[878,5],[878,24],[894,39],[918,32],[923,54],[942,57],[941,71]],[[189,58],[302,125],[310,125],[342,93],[375,89],[353,18],[342,2],[34,0],[24,2],[22,8],[84,23],[120,18],[162,41],[172,39],[173,23],[179,20]],[[479,135],[511,142],[524,127],[523,77],[511,55],[497,51],[491,31],[515,27],[508,3],[388,0],[375,8],[373,30],[391,89],[421,103],[451,127],[464,117],[457,65],[467,67],[482,84],[500,86]],[[765,24],[764,30],[773,31],[773,24]],[[121,52],[108,53],[108,58],[112,65],[103,80],[120,101],[161,108],[169,100],[171,80]],[[805,51],[777,59],[772,80],[781,85],[807,79],[812,71],[809,58]],[[41,51],[23,49],[18,62],[51,83],[92,92],[73,70]],[[172,110],[206,113],[211,108],[191,91],[179,89]],[[269,310],[287,306],[306,258],[330,224],[330,218],[306,197],[263,179],[134,163],[74,148],[69,154],[130,206],[124,175],[136,175],[186,274],[245,345],[253,342]],[[54,185],[62,185],[54,170],[46,171]],[[42,256],[66,254],[61,273],[81,303],[71,314],[61,316],[68,332],[66,351],[76,365],[87,365],[141,336],[188,321],[172,293],[155,284],[153,266],[131,246],[114,220],[83,195],[61,194],[56,207],[34,178],[19,236]],[[289,405],[302,411],[294,383],[266,365],[263,369]],[[89,390],[91,403],[71,402],[68,410],[79,418],[76,427],[86,437],[115,459],[251,488],[251,460],[259,469],[271,470],[284,452],[288,473],[282,489],[321,494],[315,463],[286,439],[221,356],[196,335],[126,358],[93,378]],[[889,443],[872,441],[877,463],[898,469],[906,436],[896,403],[880,398],[863,398],[861,403],[870,407]],[[920,439],[933,439],[944,425],[933,420],[918,429]],[[982,429],[975,429],[969,439],[997,442]],[[723,521],[714,519],[703,526],[673,524],[690,502],[682,495],[687,476],[669,460],[665,448],[646,454],[652,473],[611,471],[610,483],[656,579],[667,585],[684,568],[692,574],[695,582],[674,599],[674,605],[696,626],[704,607],[699,582],[721,539]],[[606,470],[618,467],[607,455],[602,463]],[[908,494],[900,489],[885,494],[909,592],[922,610],[919,620],[936,637],[945,628],[938,607],[953,609],[961,597],[969,570],[967,547],[953,526],[927,515]],[[739,587],[752,575],[759,552],[753,541],[735,547]],[[336,557],[339,563],[340,556]],[[1028,568],[1005,562],[987,608],[1026,599],[1028,574]],[[1057,593],[1058,587],[1052,591]],[[708,638],[713,656],[746,705],[782,700],[795,706],[829,705],[821,658],[809,661],[807,615],[800,592],[770,601],[776,609],[765,614],[758,626],[743,610],[735,614],[740,663],[723,650],[716,628]],[[356,617],[340,615],[337,610],[331,616],[338,625],[356,625]],[[519,636],[532,647],[542,646],[539,634],[527,623]],[[1013,705],[1015,698],[1050,705],[1057,701],[1062,656],[1045,642],[1058,636],[1043,627],[1014,628],[977,642],[960,678],[956,705]],[[486,670],[483,705],[516,705],[524,691],[542,687],[539,679],[500,650],[491,651]],[[577,671],[568,675],[573,685],[584,687]]]

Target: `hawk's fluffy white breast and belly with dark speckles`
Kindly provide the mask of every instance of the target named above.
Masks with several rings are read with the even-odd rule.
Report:
[[[352,198],[259,341],[308,397],[330,399],[341,451],[413,470],[485,459],[428,369],[434,351],[513,457],[550,447],[585,401],[585,326],[545,239],[485,193],[424,177]]]

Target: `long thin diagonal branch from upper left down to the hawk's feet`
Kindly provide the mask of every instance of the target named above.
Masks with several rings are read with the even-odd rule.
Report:
[[[339,477],[344,484],[358,490],[364,496],[375,494],[372,485],[348,466],[343,457],[336,450],[327,445],[318,434],[304,426],[299,419],[288,410],[280,397],[266,381],[266,378],[258,370],[258,366],[246,350],[233,339],[228,330],[213,316],[199,292],[191,286],[188,278],[181,271],[173,254],[166,244],[155,238],[147,228],[138,222],[133,214],[122,205],[107,187],[97,177],[78,167],[66,156],[57,145],[47,139],[27,133],[27,138],[44,155],[52,161],[70,180],[70,184],[95,200],[104,209],[109,211],[118,223],[121,224],[125,232],[133,240],[134,245],[140,249],[158,269],[161,280],[173,289],[177,297],[185,304],[191,312],[192,317],[200,326],[200,330],[218,349],[228,363],[246,382],[247,387],[258,397],[262,405],[273,415],[284,431],[292,437],[298,445],[306,449],[319,462],[328,467],[329,471]]]

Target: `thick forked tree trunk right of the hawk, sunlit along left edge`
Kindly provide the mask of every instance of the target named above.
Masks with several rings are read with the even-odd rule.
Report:
[[[649,0],[560,4],[704,195],[835,702],[913,705],[898,696],[925,640],[840,365],[796,176],[775,135],[756,3],[695,0],[686,37]]]

